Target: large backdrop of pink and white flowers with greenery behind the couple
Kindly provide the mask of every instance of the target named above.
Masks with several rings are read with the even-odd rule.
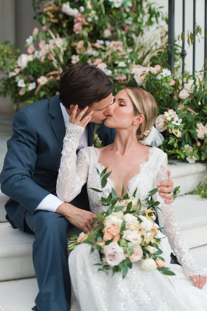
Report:
[[[0,94],[14,104],[31,104],[58,93],[62,69],[89,63],[114,84],[142,87],[157,101],[155,126],[165,140],[169,159],[207,161],[207,80],[203,72],[179,74],[168,68],[166,16],[143,0],[33,0],[34,28],[27,54],[9,42],[0,44]]]

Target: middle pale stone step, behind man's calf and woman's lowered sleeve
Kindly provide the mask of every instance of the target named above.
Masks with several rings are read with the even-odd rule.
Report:
[[[207,200],[188,194],[177,197],[173,205],[188,247],[207,244]],[[78,235],[80,231],[74,227],[67,235]],[[14,230],[8,222],[4,222],[0,223],[0,236],[0,281],[34,276],[34,235]]]

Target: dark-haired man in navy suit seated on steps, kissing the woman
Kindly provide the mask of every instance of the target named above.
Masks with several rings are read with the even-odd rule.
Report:
[[[2,193],[10,197],[5,205],[13,228],[35,234],[33,263],[39,286],[33,310],[69,311],[71,284],[67,264],[67,229],[72,225],[91,230],[95,215],[89,211],[86,187],[71,202],[56,196],[66,124],[75,104],[79,112],[89,106],[91,123],[79,147],[92,146],[94,123],[101,123],[102,145],[113,142],[115,132],[103,121],[111,114],[113,84],[105,73],[90,65],[66,68],[60,78],[60,94],[41,100],[17,112],[13,135],[0,175]],[[71,109],[71,110],[70,110]],[[161,185],[163,196],[172,202],[169,179]],[[168,192],[168,193],[167,193]]]

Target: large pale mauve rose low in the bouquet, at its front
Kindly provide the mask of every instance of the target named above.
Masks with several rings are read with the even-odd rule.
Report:
[[[103,263],[110,267],[117,266],[122,260],[126,259],[123,248],[117,242],[104,245],[103,253],[105,255]]]

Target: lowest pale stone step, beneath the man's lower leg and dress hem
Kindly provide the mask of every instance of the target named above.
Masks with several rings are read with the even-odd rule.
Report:
[[[200,267],[207,267],[207,245],[191,248],[190,253]],[[0,311],[29,311],[37,293],[36,278],[0,282]],[[71,311],[81,311],[73,290]]]

